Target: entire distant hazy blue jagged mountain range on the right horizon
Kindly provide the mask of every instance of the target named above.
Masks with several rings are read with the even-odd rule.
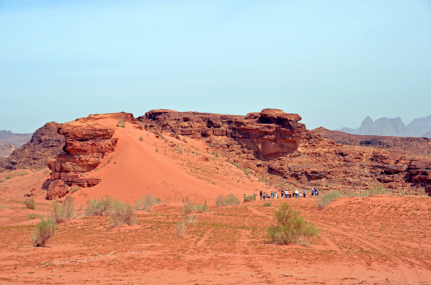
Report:
[[[431,137],[431,115],[424,118],[415,118],[407,126],[403,123],[400,117],[384,117],[375,121],[370,117],[366,117],[364,121],[362,121],[361,126],[357,129],[342,127],[336,131],[367,136]]]

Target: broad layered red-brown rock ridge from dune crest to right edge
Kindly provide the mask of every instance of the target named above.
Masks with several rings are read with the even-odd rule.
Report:
[[[309,131],[299,115],[278,109],[247,116],[151,110],[137,119],[155,132],[202,139],[227,161],[297,187],[368,189],[384,183],[431,192],[424,163],[431,158],[430,139]]]

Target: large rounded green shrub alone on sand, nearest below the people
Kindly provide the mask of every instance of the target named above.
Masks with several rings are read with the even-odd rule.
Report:
[[[309,245],[311,238],[319,235],[315,226],[304,221],[300,213],[286,203],[274,210],[274,221],[275,225],[266,230],[268,238],[273,242]]]

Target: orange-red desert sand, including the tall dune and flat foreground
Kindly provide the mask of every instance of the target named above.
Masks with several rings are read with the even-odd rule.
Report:
[[[27,216],[49,213],[43,189],[49,174],[6,173],[12,178],[0,187],[0,206],[7,207],[0,209],[0,284],[390,285],[386,278],[394,285],[431,283],[428,197],[348,197],[322,211],[310,196],[269,199],[272,207],[262,207],[260,200],[215,207],[214,199],[222,192],[240,197],[274,188],[256,177],[248,179],[193,139],[184,143],[165,136],[165,142],[131,124],[118,128],[114,137],[119,138],[116,150],[88,173],[102,182],[73,194],[81,204],[78,210],[84,209],[87,198],[103,195],[133,202],[152,193],[162,203],[151,214],[137,211],[138,224],[133,227],[111,229],[108,217],[68,220],[59,224],[47,248],[33,248],[29,237],[39,220],[27,221]],[[182,155],[173,144],[181,147]],[[204,161],[204,156],[212,160]],[[36,210],[21,204],[27,192],[37,194]],[[175,222],[182,220],[182,202],[188,200],[207,200],[209,213],[196,214],[196,223],[187,224],[186,235],[179,237]],[[310,248],[277,245],[265,237],[272,210],[284,202],[321,230]]]

